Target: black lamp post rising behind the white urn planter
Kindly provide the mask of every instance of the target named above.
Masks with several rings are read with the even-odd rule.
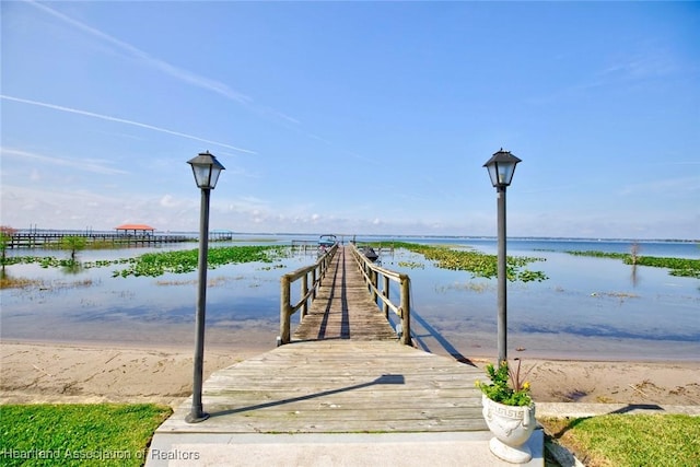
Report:
[[[515,165],[521,162],[520,159],[511,154],[510,151],[503,151],[503,148],[483,164],[489,171],[491,184],[495,187],[498,197],[498,273],[499,273],[499,292],[498,292],[498,341],[499,341],[499,365],[508,361],[508,320],[506,320],[506,293],[505,283],[508,281],[505,272],[505,187],[511,184]]]

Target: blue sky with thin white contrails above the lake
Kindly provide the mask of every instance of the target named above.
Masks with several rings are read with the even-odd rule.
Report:
[[[700,3],[3,1],[1,223],[700,238]]]

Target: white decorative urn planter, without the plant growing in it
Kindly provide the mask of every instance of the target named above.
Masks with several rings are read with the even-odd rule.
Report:
[[[533,458],[527,440],[533,434],[535,404],[529,406],[505,406],[481,395],[483,419],[493,433],[489,448],[497,457],[512,464],[525,464]]]

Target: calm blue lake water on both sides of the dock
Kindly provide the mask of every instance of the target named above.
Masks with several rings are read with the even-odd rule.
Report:
[[[315,236],[241,235],[233,245]],[[345,241],[351,240],[350,237]],[[392,238],[357,237],[358,241]],[[401,242],[450,244],[495,254],[492,238],[400,237]],[[224,244],[210,244],[210,247]],[[640,242],[640,255],[699,258],[700,247],[682,242]],[[83,261],[117,259],[151,250],[89,250]],[[620,260],[573,256],[567,250],[629,253],[630,242],[509,240],[513,256],[539,257],[530,270],[542,282],[510,282],[509,355],[561,359],[700,360],[700,281],[670,276],[667,269]],[[13,250],[13,255],[66,257],[66,252]],[[299,253],[276,267],[229,265],[210,270],[207,342],[235,348],[272,348],[279,335],[280,277],[315,260]],[[468,358],[495,355],[497,280],[434,268],[404,249],[385,253],[382,265],[411,278],[412,328],[418,343],[432,352]],[[401,265],[419,264],[407,268]],[[67,273],[37,265],[7,268],[12,277],[40,279],[43,285],[0,292],[3,339],[127,342],[189,346],[194,341],[197,273],[159,278],[113,278],[119,265]],[[398,296],[398,290],[392,290]]]

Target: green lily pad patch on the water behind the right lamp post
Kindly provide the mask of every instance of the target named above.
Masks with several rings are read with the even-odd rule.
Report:
[[[442,269],[469,271],[474,277],[495,278],[498,277],[498,256],[487,255],[472,249],[453,249],[446,246],[420,245],[415,243],[394,244],[396,248],[406,248],[410,252],[421,254],[428,260]],[[547,276],[541,271],[524,269],[529,262],[544,261],[545,258],[509,256],[506,258],[505,273],[510,281],[544,281]]]

